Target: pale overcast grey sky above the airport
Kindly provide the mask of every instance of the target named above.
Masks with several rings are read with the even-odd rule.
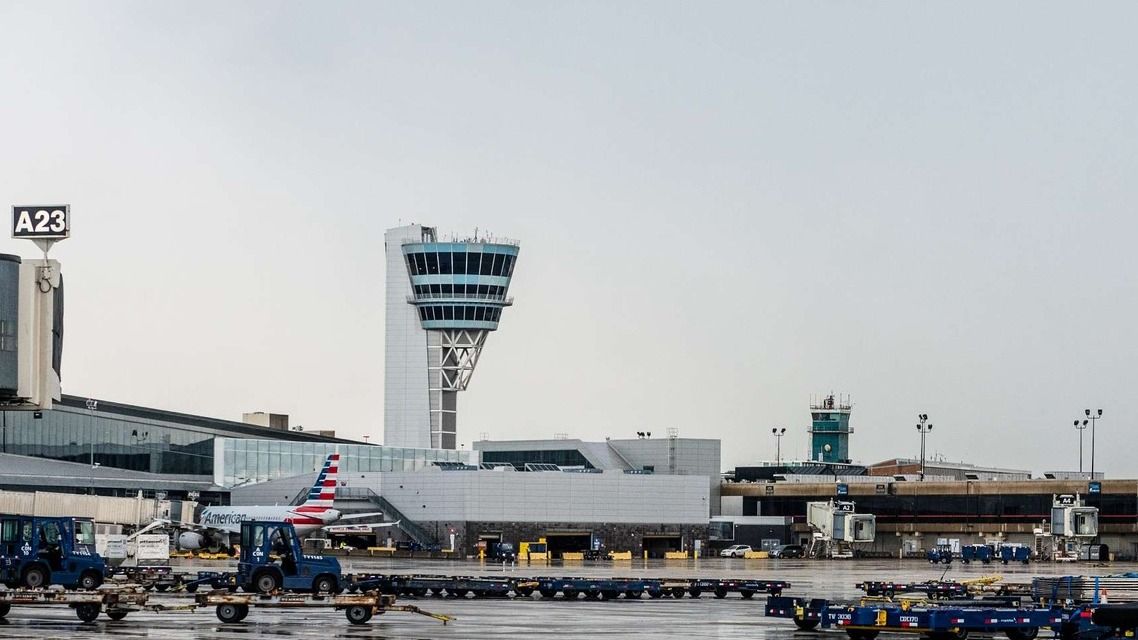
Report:
[[[1138,6],[3,2],[64,392],[382,435],[384,230],[517,238],[459,440],[1138,476]],[[27,240],[0,253],[35,257]],[[1090,433],[1086,434],[1086,468]]]

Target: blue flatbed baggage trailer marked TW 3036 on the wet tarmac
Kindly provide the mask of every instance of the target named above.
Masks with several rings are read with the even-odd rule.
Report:
[[[853,640],[872,640],[882,631],[921,633],[932,640],[958,640],[967,638],[970,632],[1003,633],[1011,640],[1031,640],[1040,630],[1062,632],[1066,622],[1059,608],[842,605],[825,599],[785,597],[768,598],[766,615],[791,618],[799,629],[842,629]]]

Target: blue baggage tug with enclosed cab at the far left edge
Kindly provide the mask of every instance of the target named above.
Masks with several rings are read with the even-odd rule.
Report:
[[[0,583],[92,590],[106,575],[90,519],[0,514]]]

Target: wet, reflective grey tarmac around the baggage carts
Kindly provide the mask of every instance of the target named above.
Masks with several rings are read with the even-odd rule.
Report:
[[[853,598],[860,592],[853,584],[864,580],[923,581],[931,579],[966,580],[999,574],[1008,582],[1030,582],[1036,575],[1106,575],[1138,569],[1133,564],[1103,566],[1079,565],[942,565],[918,560],[742,560],[635,561],[553,566],[485,566],[478,563],[343,558],[347,573],[420,573],[439,575],[587,575],[587,576],[669,576],[669,577],[757,577],[786,580],[786,594],[827,598]],[[215,563],[181,567],[181,571],[208,568]],[[157,594],[152,602],[189,601],[185,596]],[[725,599],[702,597],[683,600],[660,599],[616,601],[563,601],[537,597],[525,599],[404,598],[401,604],[446,614],[455,620],[442,624],[409,613],[377,616],[365,625],[348,624],[341,612],[282,610],[255,608],[237,624],[222,624],[213,608],[193,613],[132,613],[125,620],[100,616],[82,623],[66,607],[14,607],[0,621],[0,638],[145,638],[148,640],[188,639],[337,639],[337,638],[455,638],[455,639],[605,639],[605,638],[709,638],[709,639],[808,639],[838,640],[841,632],[801,632],[785,620],[762,615],[765,599],[744,600],[739,594]],[[975,637],[975,635],[973,635]],[[912,635],[882,634],[885,638]],[[1004,638],[999,635],[998,638]]]

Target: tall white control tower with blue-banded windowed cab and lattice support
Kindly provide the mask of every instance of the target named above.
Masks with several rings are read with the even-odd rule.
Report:
[[[510,306],[518,243],[388,229],[384,444],[456,449],[457,394]]]

